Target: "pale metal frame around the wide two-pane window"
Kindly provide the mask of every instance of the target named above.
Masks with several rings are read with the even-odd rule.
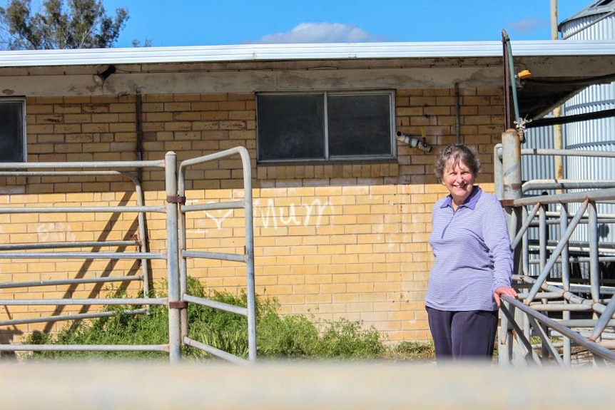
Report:
[[[324,155],[323,158],[275,158],[261,159],[261,143],[260,129],[258,126],[258,98],[260,96],[322,96],[324,113],[322,117],[322,128],[324,131]],[[367,154],[367,155],[330,155],[329,148],[329,97],[361,97],[361,96],[387,96],[389,109],[389,138],[390,152],[385,154]],[[385,160],[395,160],[397,158],[397,143],[395,137],[395,90],[366,90],[366,91],[291,91],[291,92],[262,92],[255,94],[256,107],[256,158],[260,164],[275,164],[275,163],[335,163],[335,162],[350,162],[350,161],[365,161],[365,162],[382,162]]]

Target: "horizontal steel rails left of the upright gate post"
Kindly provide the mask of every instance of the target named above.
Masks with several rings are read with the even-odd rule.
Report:
[[[150,252],[148,249],[147,233],[145,227],[146,212],[165,212],[164,207],[146,206],[141,182],[136,177],[133,170],[139,168],[164,168],[163,160],[159,161],[111,161],[111,162],[73,162],[73,163],[3,163],[0,165],[0,177],[24,177],[24,178],[96,178],[114,177],[128,178],[133,183],[136,205],[99,205],[99,206],[2,206],[0,214],[78,214],[94,213],[96,215],[111,214],[118,215],[133,213],[136,214],[137,235],[133,235],[130,240],[105,240],[104,235],[99,236],[99,240],[93,241],[65,241],[65,242],[36,242],[36,243],[4,243],[0,245],[0,258],[8,260],[83,260],[85,269],[87,264],[93,260],[136,260],[141,265],[141,275],[108,275],[101,277],[73,277],[65,280],[39,280],[24,282],[1,282],[0,289],[18,289],[45,286],[77,286],[86,284],[103,285],[113,282],[134,282],[142,283],[144,297],[138,298],[72,298],[70,292],[63,298],[25,298],[25,299],[2,299],[4,306],[56,306],[56,312],[52,316],[29,317],[25,319],[7,319],[0,321],[0,326],[16,326],[19,324],[32,323],[53,323],[60,321],[72,321],[78,319],[93,319],[97,317],[109,317],[114,312],[84,312],[76,314],[61,314],[61,309],[66,306],[91,307],[93,305],[145,305],[143,309],[125,310],[123,314],[144,314],[148,312],[149,306],[153,304],[166,304],[166,298],[147,297],[150,293],[150,272],[148,260],[164,259],[161,252]],[[26,194],[27,195],[27,194]],[[36,204],[39,205],[39,204]],[[136,246],[139,252],[126,252],[128,246]],[[78,250],[77,250],[78,249]],[[115,250],[113,250],[115,249]],[[71,250],[71,251],[69,251]],[[113,250],[113,251],[112,251]],[[54,272],[50,272],[54,273]],[[39,345],[39,344],[0,344],[0,351],[90,351],[90,352],[111,352],[111,351],[138,351],[138,352],[166,352],[168,348],[164,345],[152,346],[126,346],[126,345]]]

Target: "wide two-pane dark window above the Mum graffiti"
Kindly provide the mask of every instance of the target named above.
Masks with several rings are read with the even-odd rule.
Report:
[[[392,92],[257,96],[258,160],[395,158]]]

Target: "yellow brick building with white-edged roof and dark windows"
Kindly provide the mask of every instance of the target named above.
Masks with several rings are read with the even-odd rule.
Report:
[[[594,44],[594,43],[592,43]],[[534,78],[610,73],[612,43],[513,43],[515,70]],[[605,57],[606,56],[606,57]],[[255,284],[283,314],[362,320],[391,342],[429,339],[423,297],[432,254],[432,204],[445,190],[432,172],[449,143],[477,148],[478,183],[493,192],[493,150],[505,129],[502,43],[361,43],[211,46],[0,53],[3,162],[178,160],[242,145],[253,171]],[[102,83],[93,75],[107,68]],[[577,85],[575,89],[578,89]],[[541,96],[519,89],[540,116],[573,89]],[[550,105],[550,106],[549,106]],[[10,121],[7,118],[12,118]],[[23,125],[23,126],[22,126]],[[400,131],[433,147],[402,143]],[[6,140],[5,140],[6,141]],[[21,157],[20,157],[21,155]],[[189,175],[186,203],[243,195],[235,160]],[[129,204],[121,178],[3,176],[4,205]],[[164,175],[140,175],[146,203],[164,203]],[[203,212],[188,238],[215,250],[243,246],[239,215]],[[134,217],[80,213],[0,215],[3,243],[126,240]],[[163,251],[164,218],[147,216],[149,246]],[[206,287],[236,291],[245,272],[232,263],[190,267]],[[133,262],[0,260],[0,282],[136,272]],[[153,280],[166,277],[151,262]],[[132,286],[132,285],[131,285]],[[93,297],[100,285],[0,289],[0,298]],[[129,287],[138,289],[138,287]],[[103,289],[104,290],[104,289]],[[0,307],[0,320],[89,307]],[[53,324],[0,329],[2,342]]]

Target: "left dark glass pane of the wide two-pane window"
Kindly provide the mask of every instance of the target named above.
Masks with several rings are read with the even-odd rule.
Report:
[[[257,98],[258,159],[325,158],[322,94]]]

